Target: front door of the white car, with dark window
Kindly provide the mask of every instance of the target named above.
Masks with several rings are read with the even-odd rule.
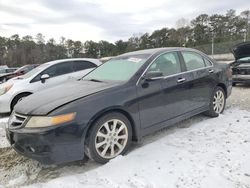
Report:
[[[52,65],[31,80],[31,88],[33,91],[36,91],[62,84],[71,79],[71,74],[73,72],[72,62],[62,62]],[[45,74],[49,75],[49,78],[42,82],[41,76]]]

